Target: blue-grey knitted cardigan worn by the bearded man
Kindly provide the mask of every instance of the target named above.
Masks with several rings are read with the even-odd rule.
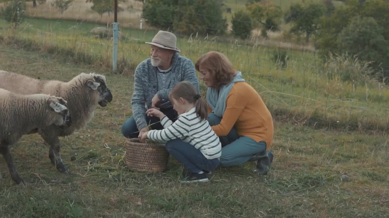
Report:
[[[157,67],[151,65],[151,59],[148,58],[142,61],[135,69],[134,93],[131,99],[132,115],[137,124],[138,130],[147,126],[146,123],[146,107],[151,108],[151,99],[157,93]],[[198,82],[195,65],[193,62],[178,53],[173,55],[172,87],[180,81],[189,81],[200,93],[200,85]],[[159,99],[169,99],[171,89],[163,89],[158,91]]]

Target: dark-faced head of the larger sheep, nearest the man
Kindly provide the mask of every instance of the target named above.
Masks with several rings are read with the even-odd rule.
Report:
[[[98,91],[98,104],[101,107],[107,106],[108,103],[112,102],[112,93],[107,87],[105,76],[95,73],[90,73],[89,79],[87,80],[86,85],[91,88],[93,91]]]

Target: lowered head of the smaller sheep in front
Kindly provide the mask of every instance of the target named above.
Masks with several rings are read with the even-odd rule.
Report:
[[[47,104],[54,111],[54,125],[57,126],[70,126],[72,124],[72,118],[70,117],[66,101],[60,97],[51,96],[47,101]]]

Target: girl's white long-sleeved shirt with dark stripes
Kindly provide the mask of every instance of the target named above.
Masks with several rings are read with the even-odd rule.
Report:
[[[158,142],[167,142],[180,138],[184,142],[195,146],[207,159],[221,156],[221,143],[219,137],[210,127],[206,119],[200,120],[196,108],[180,114],[174,123],[164,116],[161,119],[163,130],[150,130],[147,138]]]

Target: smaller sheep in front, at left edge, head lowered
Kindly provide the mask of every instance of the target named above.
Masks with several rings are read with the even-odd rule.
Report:
[[[71,118],[62,98],[46,94],[21,95],[0,89],[0,153],[15,183],[25,184],[18,175],[9,146],[36,128],[71,125]]]

